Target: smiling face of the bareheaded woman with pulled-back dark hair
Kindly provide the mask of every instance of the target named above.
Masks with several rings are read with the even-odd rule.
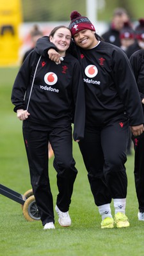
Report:
[[[67,51],[70,46],[70,40],[72,35],[70,30],[67,28],[59,28],[56,30],[53,36],[49,36],[50,42],[56,45],[58,52],[61,56],[65,55],[65,51]]]

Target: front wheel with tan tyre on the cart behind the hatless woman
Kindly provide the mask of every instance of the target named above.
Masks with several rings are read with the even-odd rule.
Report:
[[[24,218],[28,221],[40,220],[40,213],[35,202],[35,196],[29,196],[23,205]]]

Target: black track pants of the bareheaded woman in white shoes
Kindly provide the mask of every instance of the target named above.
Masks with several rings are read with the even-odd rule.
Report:
[[[50,141],[56,164],[58,199],[61,211],[68,211],[77,170],[72,157],[72,128],[45,127],[31,122],[23,123],[23,136],[28,156],[31,186],[35,195],[42,224],[54,222],[54,210],[48,173],[48,142]]]

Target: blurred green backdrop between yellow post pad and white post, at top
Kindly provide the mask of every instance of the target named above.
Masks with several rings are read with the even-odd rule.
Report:
[[[73,10],[86,15],[84,0],[22,0],[24,22],[69,20]]]

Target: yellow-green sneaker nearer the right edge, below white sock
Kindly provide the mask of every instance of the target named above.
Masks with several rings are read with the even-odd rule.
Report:
[[[116,228],[126,228],[130,226],[128,218],[123,212],[117,212],[115,214],[115,223]]]

